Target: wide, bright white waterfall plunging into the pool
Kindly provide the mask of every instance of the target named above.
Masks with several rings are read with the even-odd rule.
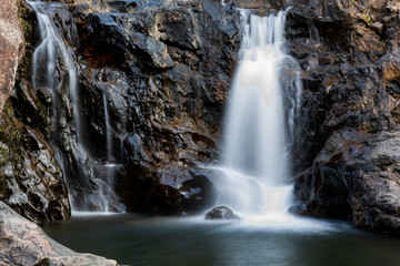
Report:
[[[241,16],[241,60],[227,111],[219,204],[283,222],[299,66],[284,51],[284,11],[258,17],[242,10]]]

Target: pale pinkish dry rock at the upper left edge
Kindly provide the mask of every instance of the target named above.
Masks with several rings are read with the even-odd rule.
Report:
[[[0,3],[0,113],[16,82],[23,54],[23,33],[18,18],[18,0]]]

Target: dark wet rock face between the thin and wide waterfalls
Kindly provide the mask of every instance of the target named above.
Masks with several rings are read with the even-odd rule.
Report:
[[[84,103],[89,146],[104,151],[99,102],[106,94],[113,152],[123,165],[116,192],[128,209],[193,212],[212,203],[211,175],[198,174],[198,165],[218,158],[239,16],[212,1],[153,4],[112,13],[84,3],[72,8],[80,83],[91,99]]]

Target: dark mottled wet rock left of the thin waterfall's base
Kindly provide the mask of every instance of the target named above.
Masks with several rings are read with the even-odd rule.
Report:
[[[10,102],[0,122],[0,200],[34,222],[67,219],[71,211],[54,151],[16,119]]]

